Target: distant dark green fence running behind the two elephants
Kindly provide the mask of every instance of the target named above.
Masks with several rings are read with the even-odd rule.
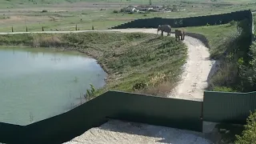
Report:
[[[126,28],[157,28],[158,25],[168,24],[172,27],[187,26],[206,26],[220,25],[234,21],[241,21],[250,18],[250,10],[235,11],[226,14],[214,14],[189,18],[143,18],[136,19],[131,22],[123,23],[119,26],[113,26],[110,29],[126,29]]]

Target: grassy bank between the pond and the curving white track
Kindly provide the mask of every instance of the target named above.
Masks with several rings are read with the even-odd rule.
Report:
[[[186,59],[182,42],[155,34],[10,34],[1,35],[0,44],[58,47],[85,53],[97,59],[109,74],[99,93],[124,90],[165,95],[177,82]]]

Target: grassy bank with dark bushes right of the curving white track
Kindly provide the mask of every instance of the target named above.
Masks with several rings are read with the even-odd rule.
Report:
[[[250,63],[250,31],[248,21],[230,22],[220,26],[186,28],[189,32],[206,36],[210,46],[210,58],[218,60],[219,69],[210,78],[207,90],[247,92],[254,90],[245,76]],[[247,83],[247,84],[246,84]],[[251,82],[250,82],[251,83]]]

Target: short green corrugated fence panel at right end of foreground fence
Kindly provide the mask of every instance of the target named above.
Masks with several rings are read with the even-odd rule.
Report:
[[[208,122],[246,124],[250,111],[256,110],[256,93],[205,91],[203,120]]]

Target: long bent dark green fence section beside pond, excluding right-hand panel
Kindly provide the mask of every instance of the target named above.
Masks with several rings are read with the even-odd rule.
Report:
[[[64,114],[27,126],[0,125],[0,142],[62,143],[116,118],[202,132],[202,102],[108,91]]]

